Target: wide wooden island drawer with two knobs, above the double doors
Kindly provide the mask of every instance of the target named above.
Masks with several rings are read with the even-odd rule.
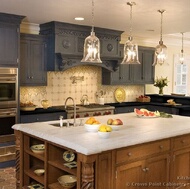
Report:
[[[116,151],[116,163],[136,160],[145,156],[162,153],[170,150],[170,140],[161,140]]]

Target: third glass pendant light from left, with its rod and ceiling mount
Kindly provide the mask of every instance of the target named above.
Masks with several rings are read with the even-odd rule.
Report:
[[[160,41],[159,45],[157,45],[155,49],[153,66],[157,64],[163,65],[167,57],[167,47],[164,45],[162,41],[162,20],[163,13],[165,12],[165,10],[158,10],[158,12],[161,13]]]

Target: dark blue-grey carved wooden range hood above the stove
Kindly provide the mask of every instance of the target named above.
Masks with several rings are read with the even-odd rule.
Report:
[[[100,39],[101,64],[82,63],[84,40],[91,27],[63,22],[48,22],[40,25],[40,34],[48,36],[48,71],[64,71],[74,66],[101,66],[115,71],[121,62],[119,42],[123,31],[95,28]]]

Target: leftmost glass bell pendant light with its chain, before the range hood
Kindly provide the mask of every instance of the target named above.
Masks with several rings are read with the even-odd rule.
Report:
[[[92,0],[92,30],[84,41],[84,53],[81,62],[102,63],[100,59],[100,40],[94,32],[94,1]]]

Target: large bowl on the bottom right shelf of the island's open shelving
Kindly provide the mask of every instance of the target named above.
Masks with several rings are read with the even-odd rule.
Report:
[[[73,188],[77,182],[77,178],[74,175],[63,175],[57,180],[64,188]]]

